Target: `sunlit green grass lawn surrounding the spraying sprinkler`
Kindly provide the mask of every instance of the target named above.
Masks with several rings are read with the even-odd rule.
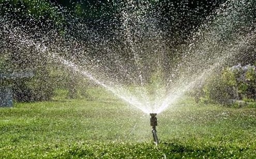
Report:
[[[157,115],[156,147],[149,115],[102,89],[88,99],[58,93],[0,109],[0,158],[256,158],[255,108],[184,99]]]

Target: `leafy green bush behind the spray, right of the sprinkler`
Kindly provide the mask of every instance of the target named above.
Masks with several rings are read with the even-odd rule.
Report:
[[[230,100],[256,99],[256,67],[240,64],[222,70],[192,92],[198,102],[229,104]]]

